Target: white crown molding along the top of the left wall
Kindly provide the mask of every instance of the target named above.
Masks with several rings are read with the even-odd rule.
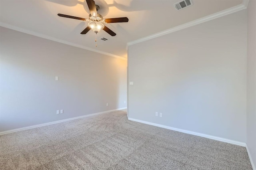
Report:
[[[26,33],[26,34],[30,34],[32,36],[37,36],[37,37],[44,38],[44,39],[47,39],[47,40],[52,40],[54,42],[64,43],[64,44],[71,45],[71,46],[74,46],[74,47],[78,47],[78,48],[82,48],[82,49],[87,49],[89,51],[94,51],[96,53],[101,53],[101,54],[104,54],[104,55],[108,55],[110,57],[115,57],[115,58],[127,60],[127,58],[121,57],[119,55],[114,55],[114,54],[111,54],[111,53],[106,53],[104,51],[99,51],[99,50],[96,50],[96,49],[93,49],[93,48],[90,48],[90,47],[86,47],[86,46],[83,46],[83,45],[78,45],[76,43],[67,42],[67,41],[60,40],[58,38],[54,38],[54,37],[51,37],[51,36],[46,36],[44,34],[33,32],[33,31],[30,31],[30,30],[26,30],[26,29],[23,29],[23,28],[20,28],[20,27],[17,27],[17,26],[12,26],[12,25],[6,24],[4,22],[0,22],[0,26],[5,27],[5,28],[9,28],[11,30],[15,30],[15,31],[18,31],[18,32],[23,32],[23,33]]]

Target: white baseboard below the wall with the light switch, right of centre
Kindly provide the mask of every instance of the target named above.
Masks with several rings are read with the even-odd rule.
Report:
[[[190,130],[183,130],[183,129],[180,129],[180,128],[168,127],[168,126],[165,126],[165,125],[160,125],[160,124],[156,124],[156,123],[141,121],[141,120],[132,119],[132,118],[128,118],[128,120],[135,121],[135,122],[140,122],[140,123],[144,123],[144,124],[148,124],[148,125],[153,125],[153,126],[156,126],[156,127],[166,128],[166,129],[170,129],[170,130],[175,130],[175,131],[183,132],[183,133],[187,133],[187,134],[193,134],[193,135],[196,135],[196,136],[201,136],[201,137],[204,137],[204,138],[218,140],[218,141],[221,141],[221,142],[236,144],[236,145],[239,145],[239,146],[244,146],[244,147],[246,146],[246,143],[244,143],[244,142],[238,142],[238,141],[235,141],[235,140],[230,140],[230,139],[220,138],[220,137],[212,136],[212,135],[208,135],[208,134],[193,132],[193,131],[190,131]]]

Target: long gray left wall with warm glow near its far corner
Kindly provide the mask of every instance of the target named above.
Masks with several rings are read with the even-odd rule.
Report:
[[[126,107],[127,61],[0,31],[0,131]]]

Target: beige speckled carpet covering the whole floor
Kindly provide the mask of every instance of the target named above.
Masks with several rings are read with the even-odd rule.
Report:
[[[0,136],[1,170],[252,170],[246,148],[128,121],[125,111]]]

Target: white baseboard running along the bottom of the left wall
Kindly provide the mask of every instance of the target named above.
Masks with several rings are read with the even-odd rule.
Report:
[[[52,125],[52,124],[56,124],[56,123],[71,121],[71,120],[75,120],[75,119],[81,119],[81,118],[89,117],[89,116],[100,115],[100,114],[109,113],[109,112],[112,112],[112,111],[119,111],[119,110],[122,110],[122,109],[126,109],[126,107],[124,107],[124,108],[119,108],[119,109],[114,109],[114,110],[110,110],[110,111],[104,111],[104,112],[99,112],[99,113],[93,113],[93,114],[90,114],[90,115],[72,117],[72,118],[69,118],[69,119],[62,119],[62,120],[60,120],[60,121],[54,121],[54,122],[49,122],[49,123],[42,123],[42,124],[39,124],[39,125],[33,125],[33,126],[29,126],[29,127],[16,128],[16,129],[13,129],[13,130],[6,130],[6,131],[3,131],[3,132],[0,132],[0,135],[2,135],[2,134],[7,134],[7,133],[12,133],[12,132],[18,132],[18,131],[20,131],[20,130],[26,130],[26,129],[30,129],[30,128],[42,127],[42,126],[46,126],[46,125]]]

